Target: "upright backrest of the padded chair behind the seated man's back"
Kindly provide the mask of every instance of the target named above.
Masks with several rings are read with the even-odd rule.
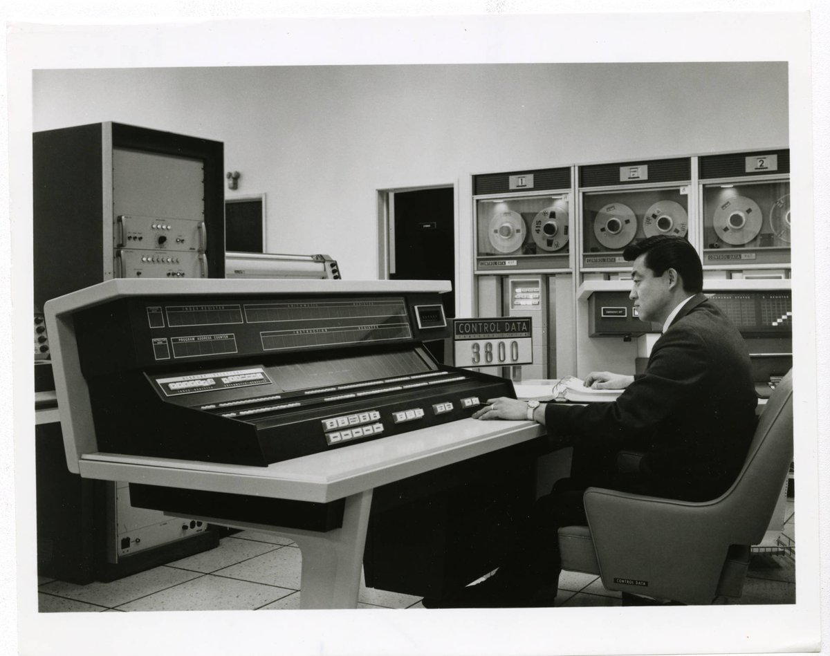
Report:
[[[720,528],[732,544],[758,544],[769,527],[793,461],[793,372],[779,382],[761,412],[743,468],[716,504],[729,518]]]

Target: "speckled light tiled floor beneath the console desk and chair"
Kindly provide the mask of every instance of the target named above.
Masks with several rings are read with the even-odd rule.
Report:
[[[789,503],[784,535],[794,542]],[[285,538],[240,532],[219,547],[110,583],[40,579],[41,612],[278,610],[300,607],[300,550]],[[557,606],[618,606],[598,576],[562,572]],[[740,604],[795,603],[794,556],[755,556]],[[420,608],[419,597],[361,585],[359,608]]]

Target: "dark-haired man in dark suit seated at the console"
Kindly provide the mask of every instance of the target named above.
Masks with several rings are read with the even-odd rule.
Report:
[[[553,605],[556,532],[587,523],[582,495],[589,486],[704,501],[734,482],[756,425],[744,340],[701,294],[701,260],[687,241],[653,236],[629,245],[623,256],[633,262],[630,298],[640,319],[663,325],[645,372],[590,373],[586,386],[623,390],[608,403],[537,406],[502,397],[476,411],[481,420],[532,418],[547,426],[554,448],[574,447],[571,476],[521,523],[510,564],[448,599],[424,600],[427,607]],[[644,453],[631,471],[618,469],[623,449]]]

